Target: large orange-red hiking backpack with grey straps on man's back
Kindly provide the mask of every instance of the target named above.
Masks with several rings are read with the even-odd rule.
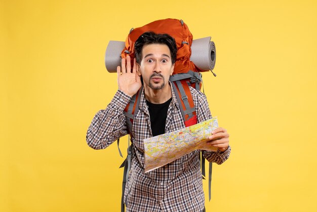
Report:
[[[125,42],[125,48],[121,53],[122,58],[126,58],[127,55],[131,57],[131,67],[133,67],[133,58],[134,55],[134,44],[136,40],[146,31],[153,31],[155,33],[167,33],[172,36],[177,45],[177,55],[176,62],[174,67],[174,74],[170,77],[170,81],[172,82],[173,89],[176,94],[177,101],[179,105],[182,106],[181,113],[183,116],[183,120],[185,126],[191,126],[197,123],[196,118],[196,109],[194,107],[194,102],[189,90],[189,86],[200,90],[202,85],[202,74],[200,72],[207,72],[209,69],[212,70],[215,65],[215,46],[213,42],[210,42],[213,45],[213,50],[209,53],[210,57],[213,60],[213,65],[208,66],[206,69],[201,69],[197,67],[191,60],[191,45],[193,42],[193,37],[191,32],[189,31],[187,25],[178,19],[164,19],[157,20],[146,24],[142,27],[132,28]],[[209,38],[210,41],[210,38]],[[216,76],[214,74],[214,76]],[[132,124],[135,114],[139,110],[139,103],[141,97],[141,89],[135,94],[130,103],[127,105],[125,109],[127,128],[130,136],[132,136]],[[132,142],[132,139],[131,139]],[[119,145],[119,139],[118,139]],[[119,149],[120,155],[121,151]],[[132,155],[132,145],[128,148],[128,156],[124,163],[120,167],[124,168],[124,179],[123,179],[123,188],[122,188],[122,211],[124,211],[124,191],[125,185],[129,178],[130,164]],[[205,179],[205,158],[201,156],[201,165],[202,165],[202,174],[203,179]],[[211,173],[212,173],[212,163],[209,165],[209,200],[211,198]]]

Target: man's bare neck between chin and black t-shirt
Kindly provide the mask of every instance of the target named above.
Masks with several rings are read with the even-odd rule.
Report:
[[[164,88],[154,90],[144,86],[145,99],[154,104],[161,104],[172,97],[171,85],[168,83]]]

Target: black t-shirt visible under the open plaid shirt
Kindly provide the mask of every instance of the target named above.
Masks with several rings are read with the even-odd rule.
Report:
[[[172,98],[162,104],[153,104],[146,100],[148,111],[151,119],[152,135],[161,135],[165,133],[165,124],[167,118],[167,110],[172,101]]]

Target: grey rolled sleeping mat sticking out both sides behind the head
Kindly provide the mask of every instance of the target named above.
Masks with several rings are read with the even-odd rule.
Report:
[[[211,37],[196,39],[191,44],[192,61],[203,70],[213,70],[216,62],[216,47]],[[121,53],[125,48],[123,41],[109,41],[104,62],[109,73],[116,73],[116,67],[121,66]]]

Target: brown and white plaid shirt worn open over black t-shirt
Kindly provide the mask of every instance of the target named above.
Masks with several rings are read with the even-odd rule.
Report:
[[[167,112],[165,132],[185,127],[181,109],[172,89],[172,101]],[[191,88],[196,108],[197,122],[211,118],[206,96]],[[105,149],[117,138],[126,135],[124,109],[130,96],[118,90],[106,110],[99,111],[87,132],[87,143],[93,149]],[[200,150],[193,151],[163,167],[144,173],[143,139],[152,136],[150,117],[141,95],[139,111],[133,126],[133,154],[129,181],[124,201],[126,211],[202,211],[205,204],[202,174],[200,171]],[[224,152],[203,151],[209,162],[223,163],[230,155],[230,147]]]

